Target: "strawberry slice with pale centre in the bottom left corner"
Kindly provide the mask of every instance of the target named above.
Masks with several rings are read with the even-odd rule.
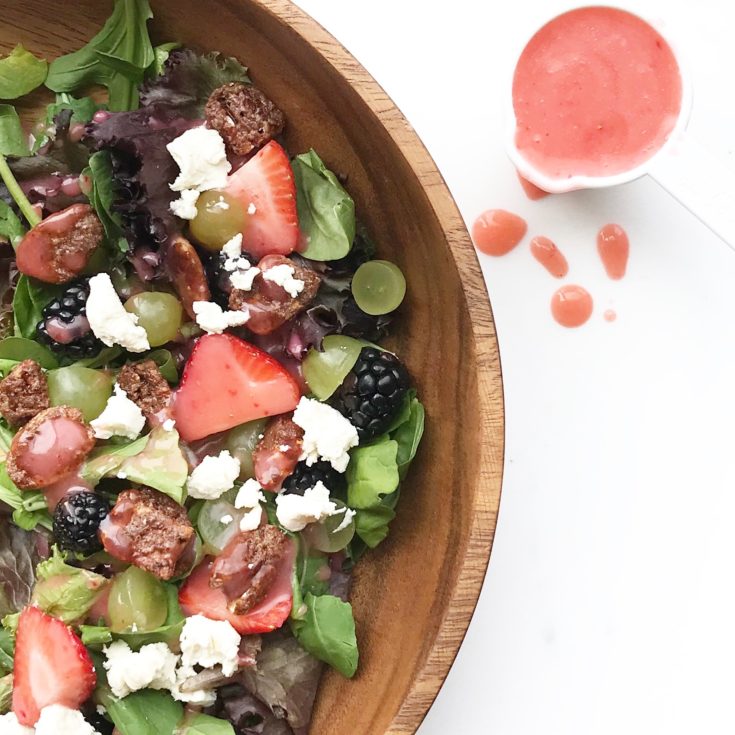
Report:
[[[71,628],[37,607],[25,608],[13,674],[13,712],[20,724],[32,727],[51,704],[79,709],[96,683],[92,659]]]

